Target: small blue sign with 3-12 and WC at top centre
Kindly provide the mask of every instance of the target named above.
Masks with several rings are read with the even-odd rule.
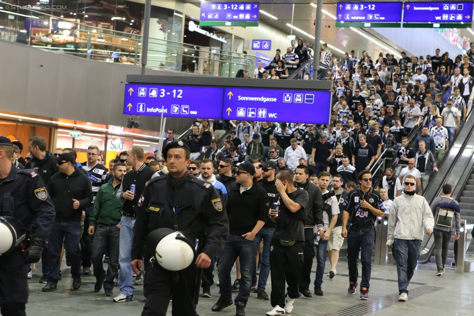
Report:
[[[257,22],[258,3],[239,2],[203,2],[201,3],[201,21],[248,21]]]

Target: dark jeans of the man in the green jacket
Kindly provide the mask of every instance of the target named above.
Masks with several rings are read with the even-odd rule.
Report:
[[[120,229],[117,226],[97,224],[92,242],[92,265],[94,276],[98,282],[103,282],[104,289],[112,290],[115,284],[114,279],[119,274],[119,238]],[[105,251],[109,253],[107,273],[102,263]]]

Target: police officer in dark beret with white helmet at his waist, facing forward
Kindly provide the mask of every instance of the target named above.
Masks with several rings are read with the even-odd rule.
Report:
[[[196,316],[199,269],[211,264],[227,240],[229,221],[220,196],[212,184],[189,175],[189,155],[189,147],[182,141],[169,143],[163,149],[169,173],[152,179],[138,203],[132,267],[138,274],[144,255],[146,302],[142,316],[165,316],[171,297],[173,316]],[[166,270],[158,263],[150,265],[152,253],[143,253],[143,246],[148,233],[159,228],[194,234],[199,240],[195,262],[180,271]]]

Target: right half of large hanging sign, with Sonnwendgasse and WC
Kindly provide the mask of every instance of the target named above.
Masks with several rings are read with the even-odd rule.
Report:
[[[222,119],[327,124],[331,92],[225,88]]]

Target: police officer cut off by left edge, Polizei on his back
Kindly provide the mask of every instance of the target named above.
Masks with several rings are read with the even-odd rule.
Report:
[[[0,136],[0,216],[17,218],[29,236],[24,253],[15,249],[0,256],[0,312],[22,316],[29,293],[25,265],[41,258],[55,212],[43,179],[34,170],[17,169],[12,157],[12,142]]]

